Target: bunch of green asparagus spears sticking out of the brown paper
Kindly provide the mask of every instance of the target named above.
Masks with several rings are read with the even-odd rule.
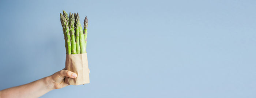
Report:
[[[78,13],[68,13],[63,10],[60,13],[60,22],[63,27],[66,54],[86,53],[87,42],[87,16],[84,19],[84,28],[80,24]]]

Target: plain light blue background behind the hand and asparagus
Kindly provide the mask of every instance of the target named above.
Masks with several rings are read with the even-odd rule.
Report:
[[[0,90],[65,66],[60,13],[88,16],[90,84],[42,98],[255,98],[254,0],[0,1]]]

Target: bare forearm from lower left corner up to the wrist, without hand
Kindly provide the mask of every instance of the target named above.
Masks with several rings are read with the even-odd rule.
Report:
[[[54,89],[50,78],[45,77],[25,85],[1,90],[0,98],[38,98]]]

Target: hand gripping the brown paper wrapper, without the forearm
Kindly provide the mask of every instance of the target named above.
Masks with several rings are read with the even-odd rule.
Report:
[[[51,84],[52,89],[61,89],[68,86],[68,84],[64,82],[65,77],[76,78],[77,74],[68,70],[60,70],[49,76],[48,83]]]

